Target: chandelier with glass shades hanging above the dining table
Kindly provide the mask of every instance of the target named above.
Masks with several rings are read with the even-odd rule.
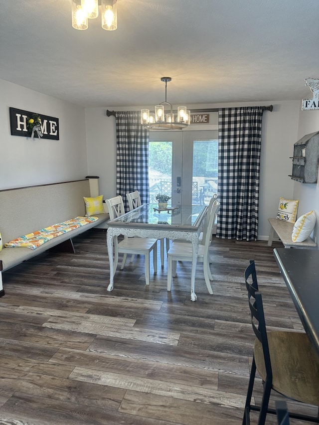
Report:
[[[167,83],[171,81],[171,78],[161,77],[160,81],[165,83],[165,102],[155,107],[155,113],[150,114],[149,109],[141,109],[141,124],[149,130],[182,130],[190,124],[190,111],[186,109],[186,106],[178,106],[175,121],[172,104],[166,100]],[[170,106],[166,116],[164,104]]]

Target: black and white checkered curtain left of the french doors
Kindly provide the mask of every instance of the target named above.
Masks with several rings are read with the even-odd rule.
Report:
[[[116,112],[116,191],[123,197],[129,211],[126,194],[138,190],[141,202],[149,202],[149,132],[141,125],[137,111]]]

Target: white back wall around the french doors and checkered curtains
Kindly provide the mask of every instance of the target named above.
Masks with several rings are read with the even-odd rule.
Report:
[[[238,107],[273,104],[273,112],[265,111],[262,128],[259,239],[268,239],[269,217],[275,217],[280,196],[293,196],[291,174],[292,146],[298,131],[299,101],[255,102],[210,105],[187,105],[190,109]],[[88,173],[100,176],[100,193],[105,198],[116,195],[116,133],[115,118],[105,115],[106,109],[116,111],[140,110],[136,107],[87,108],[86,136]],[[199,126],[196,126],[199,127]],[[205,126],[199,127],[205,130]]]

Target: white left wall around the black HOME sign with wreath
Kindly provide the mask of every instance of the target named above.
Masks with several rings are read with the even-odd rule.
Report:
[[[4,80],[0,93],[0,189],[87,175],[84,108]],[[9,107],[58,118],[60,140],[11,136]]]

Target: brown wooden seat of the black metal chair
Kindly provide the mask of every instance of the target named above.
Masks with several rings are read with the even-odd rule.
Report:
[[[319,356],[307,334],[267,332],[272,388],[291,399],[319,406]],[[255,340],[255,362],[260,377],[266,380],[261,342]]]

